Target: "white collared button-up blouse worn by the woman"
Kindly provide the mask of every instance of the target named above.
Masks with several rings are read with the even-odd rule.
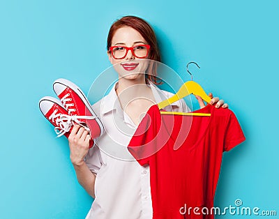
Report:
[[[105,133],[86,156],[86,165],[96,174],[95,195],[86,219],[151,219],[152,200],[149,166],[142,167],[127,146],[137,126],[123,112],[116,95],[117,82],[102,100],[92,107],[105,127]],[[149,82],[156,103],[173,96]],[[190,112],[179,100],[167,111]]]

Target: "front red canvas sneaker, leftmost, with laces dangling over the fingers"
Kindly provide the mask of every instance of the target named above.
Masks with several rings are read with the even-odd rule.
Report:
[[[68,138],[73,128],[74,121],[80,119],[79,116],[68,115],[67,110],[61,105],[61,102],[51,96],[41,98],[39,101],[39,108],[45,118],[55,127],[54,130],[57,137],[65,135]],[[87,127],[84,128],[89,130]],[[92,146],[93,140],[90,139],[89,148]]]

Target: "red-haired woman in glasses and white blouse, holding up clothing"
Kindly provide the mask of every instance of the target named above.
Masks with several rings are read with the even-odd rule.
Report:
[[[107,55],[119,80],[107,96],[93,105],[106,132],[90,150],[86,140],[89,133],[84,128],[74,126],[68,137],[77,179],[95,198],[86,218],[152,218],[149,167],[133,160],[126,146],[142,115],[160,101],[156,93],[172,96],[158,89],[154,77],[146,71],[146,59],[160,61],[153,29],[139,17],[122,17],[110,28]],[[202,99],[197,100],[204,107]],[[227,107],[218,98],[212,98],[213,103]],[[169,107],[167,110],[188,111],[183,101]]]

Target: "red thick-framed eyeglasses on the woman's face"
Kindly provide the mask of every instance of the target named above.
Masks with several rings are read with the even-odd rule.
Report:
[[[149,54],[150,45],[142,44],[142,45],[135,45],[133,47],[124,47],[115,45],[110,47],[110,52],[114,59],[124,59],[128,54],[128,51],[131,50],[133,56],[144,59]]]

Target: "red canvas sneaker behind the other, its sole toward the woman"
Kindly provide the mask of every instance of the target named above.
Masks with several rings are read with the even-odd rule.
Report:
[[[104,126],[95,112],[93,112],[89,101],[82,90],[66,79],[58,79],[53,83],[53,89],[61,100],[62,105],[70,116],[76,116],[76,123],[86,126],[90,130],[92,139],[104,133]]]

